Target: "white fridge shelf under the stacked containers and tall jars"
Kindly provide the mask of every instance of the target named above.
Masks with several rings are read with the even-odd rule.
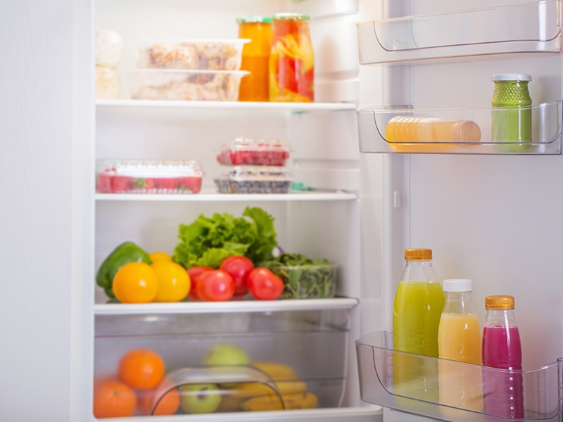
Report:
[[[277,103],[255,101],[152,101],[96,100],[101,108],[191,108],[196,110],[277,110],[303,113],[307,111],[356,110],[355,103]]]

